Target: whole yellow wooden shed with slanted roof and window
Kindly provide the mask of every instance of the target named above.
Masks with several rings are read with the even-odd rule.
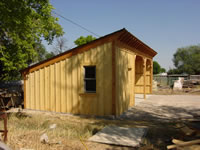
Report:
[[[22,71],[26,109],[120,115],[135,93],[152,92],[157,53],[126,29],[73,48]]]

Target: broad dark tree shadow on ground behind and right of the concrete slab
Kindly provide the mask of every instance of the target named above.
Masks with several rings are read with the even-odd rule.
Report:
[[[186,136],[177,124],[189,125],[191,121],[196,124],[200,120],[200,110],[190,108],[180,108],[172,106],[159,106],[152,109],[140,109],[140,107],[132,107],[120,117],[115,119],[97,120],[93,125],[116,125],[124,127],[146,127],[147,134],[141,144],[141,147],[121,147],[122,150],[138,149],[138,150],[156,150],[166,149],[167,145],[172,144],[172,139],[193,140],[199,138],[199,135]],[[190,126],[189,126],[190,127]],[[106,150],[118,150],[119,147],[113,146]]]

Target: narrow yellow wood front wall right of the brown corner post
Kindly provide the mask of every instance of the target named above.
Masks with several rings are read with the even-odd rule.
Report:
[[[120,115],[135,103],[135,54],[116,48],[116,114]]]

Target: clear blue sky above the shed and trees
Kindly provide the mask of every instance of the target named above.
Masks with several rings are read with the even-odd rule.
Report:
[[[100,36],[126,28],[157,51],[154,60],[166,70],[174,68],[172,58],[178,48],[200,44],[200,0],[50,2],[55,12]],[[63,18],[59,19],[59,24],[69,48],[75,47],[73,42],[80,36],[91,35]]]

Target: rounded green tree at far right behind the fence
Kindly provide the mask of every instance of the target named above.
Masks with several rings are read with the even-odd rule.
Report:
[[[200,74],[200,45],[178,48],[173,57],[175,69],[169,73]]]

